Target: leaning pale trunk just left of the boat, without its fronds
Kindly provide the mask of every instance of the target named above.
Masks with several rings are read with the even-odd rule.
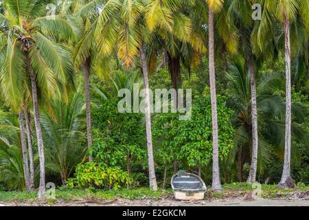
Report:
[[[152,150],[148,66],[147,66],[146,54],[144,52],[143,43],[141,43],[139,50],[140,50],[140,55],[141,55],[141,67],[143,70],[144,88],[145,88],[145,117],[146,117],[147,149],[148,149],[149,184],[150,184],[151,190],[157,190],[158,187],[157,187],[157,179],[155,175],[155,163],[153,160],[153,150]]]

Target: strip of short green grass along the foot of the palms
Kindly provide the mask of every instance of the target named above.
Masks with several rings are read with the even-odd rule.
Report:
[[[210,189],[211,187],[207,187]],[[247,183],[233,183],[222,186],[224,192],[211,192],[205,195],[205,199],[224,199],[227,197],[244,197],[248,192],[252,192],[254,188]],[[297,184],[295,188],[281,189],[276,185],[261,185],[262,197],[264,199],[286,198],[293,195],[295,192],[303,192],[308,195],[309,186],[304,184]],[[45,203],[74,203],[74,202],[100,202],[113,201],[115,199],[138,200],[138,199],[152,199],[157,201],[165,197],[172,197],[172,190],[159,189],[156,192],[149,190],[149,188],[122,188],[118,190],[94,190],[94,189],[69,189],[58,188],[56,190],[56,199],[44,199]],[[37,192],[1,192],[0,202],[3,203],[35,203],[40,201],[37,198]]]

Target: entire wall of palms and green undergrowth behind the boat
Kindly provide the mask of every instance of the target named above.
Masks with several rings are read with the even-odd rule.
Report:
[[[179,170],[216,192],[309,184],[309,1],[0,7],[0,190],[156,191]]]

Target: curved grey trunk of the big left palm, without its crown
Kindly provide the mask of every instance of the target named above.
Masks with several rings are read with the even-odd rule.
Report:
[[[27,68],[30,75],[31,87],[32,87],[32,99],[33,99],[33,112],[34,112],[34,124],[36,127],[36,139],[38,141],[38,158],[40,161],[40,184],[38,186],[38,197],[43,198],[45,195],[45,157],[44,157],[44,144],[43,135],[40,124],[40,113],[38,112],[38,91],[36,88],[36,78],[32,73],[30,67],[30,60],[27,57]]]

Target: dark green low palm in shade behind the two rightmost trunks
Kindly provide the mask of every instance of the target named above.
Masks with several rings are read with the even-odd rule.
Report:
[[[230,162],[233,164],[237,161],[238,181],[242,181],[242,166],[246,162],[250,162],[251,143],[253,139],[252,129],[253,122],[251,120],[251,76],[249,76],[249,67],[245,65],[244,58],[238,58],[230,67],[227,74],[227,82],[229,89],[227,90],[227,106],[235,112],[233,125],[236,128],[234,135],[234,145]],[[283,155],[284,149],[284,117],[285,102],[284,98],[275,92],[284,89],[283,73],[259,74],[257,80],[257,104],[258,104],[258,124],[260,126],[258,138],[258,170],[260,175],[264,173],[266,165],[271,162],[274,152],[279,156]],[[297,140],[304,141],[296,122],[302,122],[306,118],[306,108],[293,103],[293,136]],[[297,159],[297,147],[293,146],[293,159]]]

